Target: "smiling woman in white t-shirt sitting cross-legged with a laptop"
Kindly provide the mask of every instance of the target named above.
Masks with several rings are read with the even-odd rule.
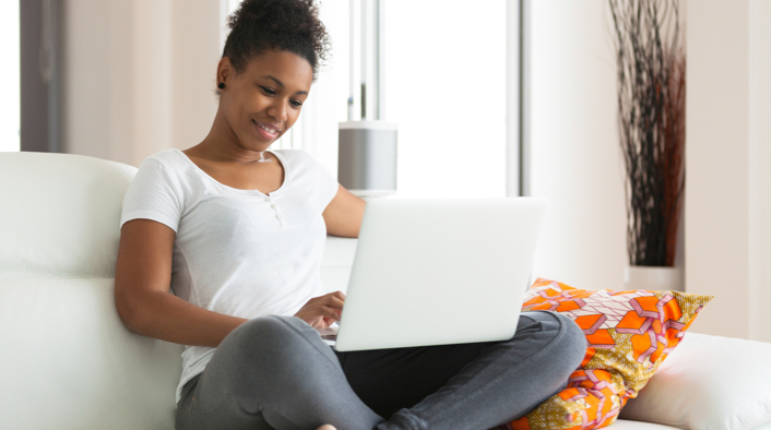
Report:
[[[177,428],[478,430],[559,391],[585,341],[555,313],[523,314],[500,343],[321,341],[345,301],[322,294],[325,235],[357,237],[365,203],[305,152],[268,148],[300,114],[325,29],[312,0],[246,0],[229,26],[211,132],[147,158],[121,216],[120,318],[186,345]]]

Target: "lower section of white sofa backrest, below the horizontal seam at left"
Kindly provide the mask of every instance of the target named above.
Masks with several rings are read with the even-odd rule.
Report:
[[[182,347],[126,330],[112,286],[0,277],[0,428],[174,427]]]

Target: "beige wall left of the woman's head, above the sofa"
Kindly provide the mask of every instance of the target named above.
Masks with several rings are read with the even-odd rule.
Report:
[[[64,151],[138,166],[205,138],[220,10],[218,0],[68,0]]]

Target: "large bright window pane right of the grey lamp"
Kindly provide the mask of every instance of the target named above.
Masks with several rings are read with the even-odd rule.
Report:
[[[384,2],[400,196],[506,195],[506,1]]]

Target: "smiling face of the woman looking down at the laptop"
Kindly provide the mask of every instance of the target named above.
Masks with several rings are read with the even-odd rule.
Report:
[[[228,58],[220,62],[218,83],[225,88],[220,109],[249,151],[265,151],[297,121],[308,98],[313,70],[308,61],[288,51],[264,51],[236,73]]]

